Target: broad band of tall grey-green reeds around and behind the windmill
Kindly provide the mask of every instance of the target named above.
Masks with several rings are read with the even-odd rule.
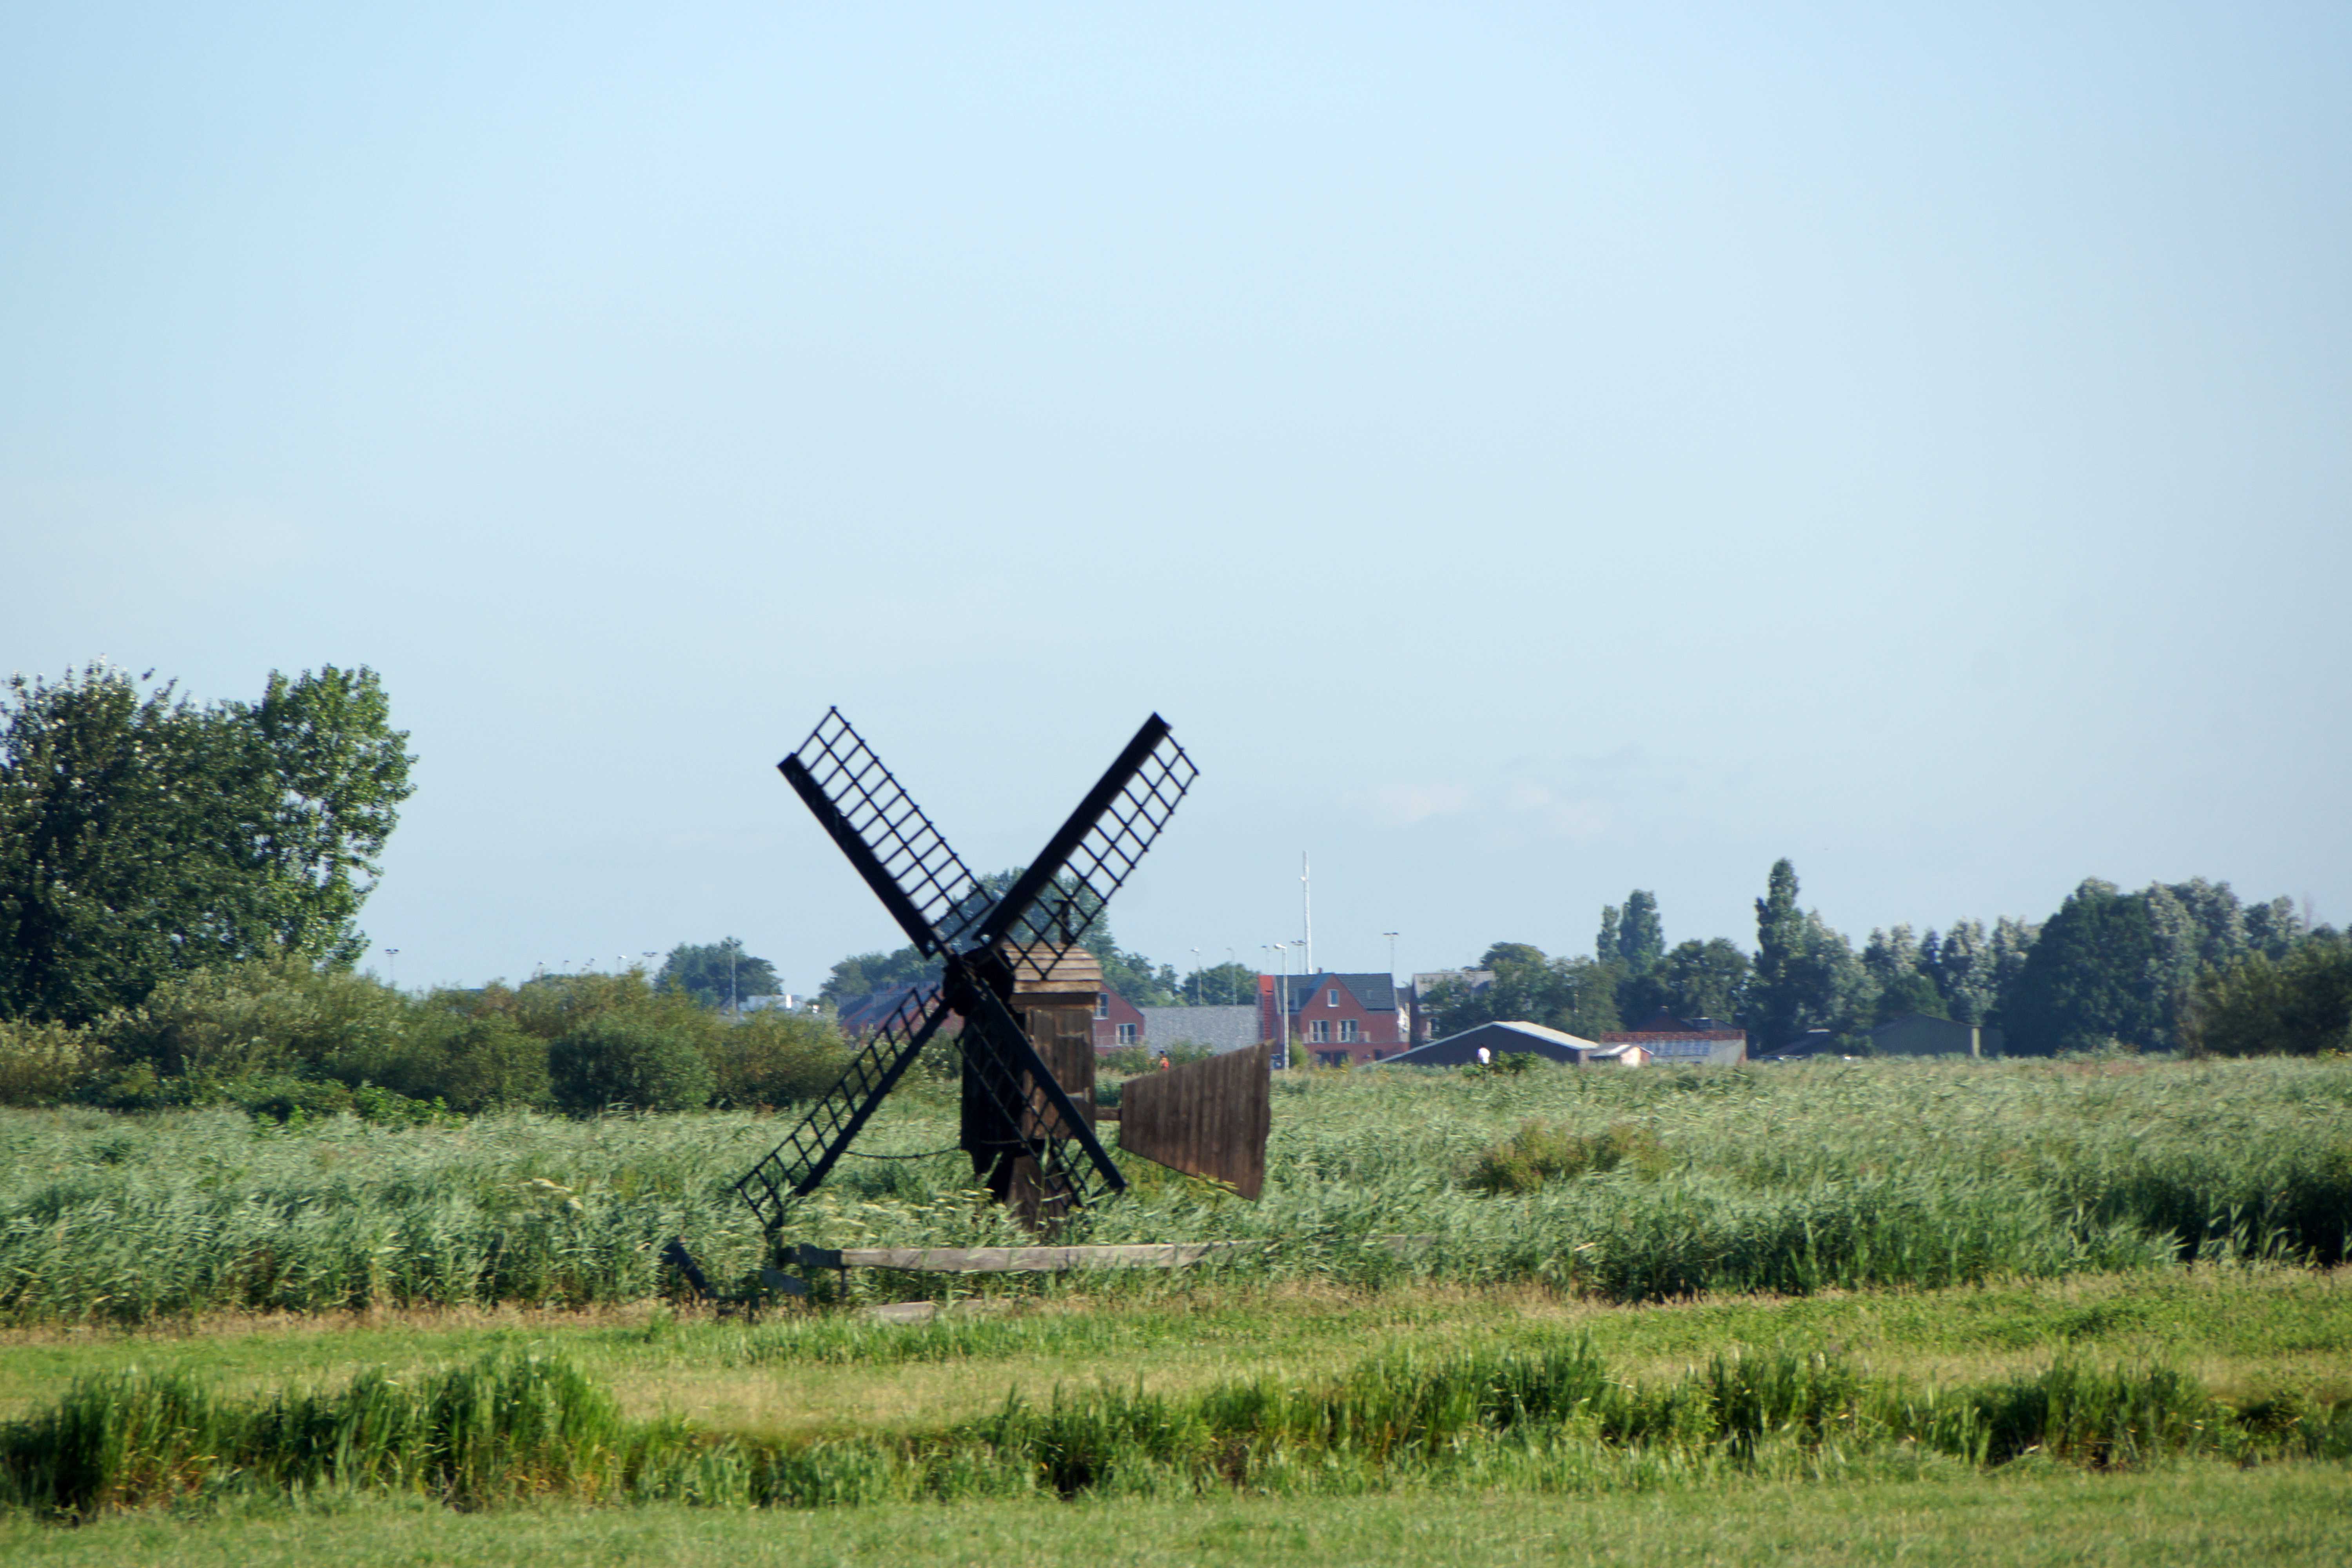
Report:
[[[1526,1124],[1621,1157],[1524,1192],[1465,1187],[1482,1152]],[[781,1131],[781,1117],[717,1112],[278,1128],[235,1112],[9,1110],[0,1321],[626,1302],[677,1288],[661,1265],[673,1234],[715,1279],[743,1284],[764,1237],[731,1185]],[[953,1143],[953,1095],[901,1095],[858,1150]],[[2352,1063],[1296,1074],[1277,1079],[1261,1204],[1127,1166],[1134,1192],[1073,1239],[1261,1239],[1218,1267],[1367,1286],[1406,1274],[1663,1300],[2336,1265],[2352,1232]],[[797,1211],[793,1239],[1023,1239],[969,1180],[957,1154],[851,1157]],[[1397,1234],[1423,1241],[1381,1241]],[[948,1286],[851,1276],[854,1295]]]

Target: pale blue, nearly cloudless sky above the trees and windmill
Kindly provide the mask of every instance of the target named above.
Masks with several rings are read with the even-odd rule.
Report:
[[[896,933],[1145,712],[1190,964],[2352,914],[2352,12],[0,7],[0,668],[374,665],[400,980]]]

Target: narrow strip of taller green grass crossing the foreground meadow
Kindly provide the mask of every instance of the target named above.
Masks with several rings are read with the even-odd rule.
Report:
[[[2352,1458],[2352,1410],[2234,1408],[2166,1368],[2058,1363],[1990,1387],[1870,1380],[1792,1352],[1717,1356],[1670,1380],[1613,1378],[1583,1340],[1392,1354],[1298,1387],[1195,1396],[1056,1389],[910,1436],[776,1443],[677,1420],[623,1422],[562,1361],[489,1356],[397,1382],[219,1399],[122,1373],[0,1427],[0,1507],[87,1519],[191,1497],[421,1493],[454,1507],[527,1497],[830,1507],[1011,1495],[1545,1488],[1602,1460],[1773,1469],[1926,1450],[1969,1465],[2027,1453],[2089,1467],[2171,1458]]]

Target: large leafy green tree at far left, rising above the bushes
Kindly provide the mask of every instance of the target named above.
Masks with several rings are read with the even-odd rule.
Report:
[[[409,797],[367,668],[195,708],[108,665],[0,698],[0,1013],[80,1023],[273,952],[348,964]]]

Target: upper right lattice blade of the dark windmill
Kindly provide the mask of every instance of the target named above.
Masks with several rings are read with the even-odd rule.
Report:
[[[1047,966],[1065,954],[1143,860],[1197,776],[1167,719],[1148,717],[1021,879],[976,922],[971,945],[1011,943]]]

